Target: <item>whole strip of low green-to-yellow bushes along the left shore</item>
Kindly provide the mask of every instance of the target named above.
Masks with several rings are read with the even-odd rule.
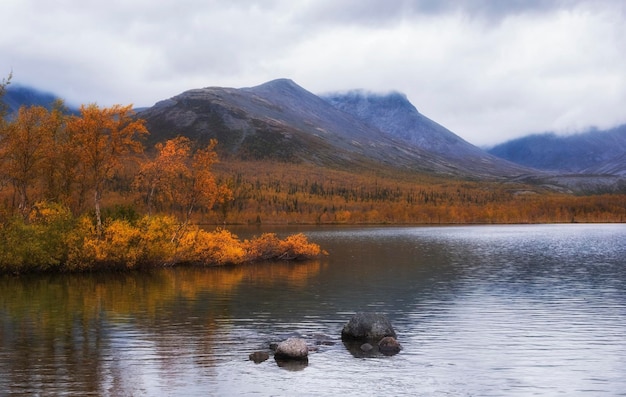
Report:
[[[98,231],[88,216],[74,218],[62,206],[38,203],[25,221],[0,227],[0,272],[131,269],[177,264],[215,266],[258,260],[320,256],[302,234],[279,239],[265,234],[240,240],[228,230],[181,229],[170,216],[143,216],[135,222],[107,219]]]

